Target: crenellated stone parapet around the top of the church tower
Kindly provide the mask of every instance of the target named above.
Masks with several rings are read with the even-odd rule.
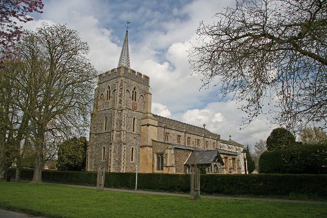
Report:
[[[118,68],[113,68],[108,70],[98,76],[98,84],[104,83],[108,80],[114,79],[116,77],[125,77],[131,80],[135,80],[139,83],[149,86],[150,85],[150,77],[142,74],[141,72],[137,72],[134,69],[120,66]]]

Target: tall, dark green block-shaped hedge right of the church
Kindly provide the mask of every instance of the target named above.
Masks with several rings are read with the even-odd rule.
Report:
[[[261,173],[327,174],[327,144],[296,145],[264,152]]]

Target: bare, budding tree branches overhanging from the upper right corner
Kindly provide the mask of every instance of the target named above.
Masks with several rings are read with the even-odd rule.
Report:
[[[189,51],[203,86],[221,85],[248,116],[275,112],[273,122],[327,128],[327,1],[244,0],[200,23]],[[263,109],[265,106],[273,109]]]

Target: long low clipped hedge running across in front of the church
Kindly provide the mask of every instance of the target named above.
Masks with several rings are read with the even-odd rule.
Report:
[[[10,171],[15,175],[14,169]],[[32,180],[33,170],[22,169],[21,179]],[[200,176],[200,191],[209,195],[250,195],[250,196],[289,196],[305,195],[327,198],[327,175],[295,174],[250,174],[221,175],[205,174]],[[96,172],[43,171],[44,182],[57,182],[78,185],[97,183]],[[106,173],[105,187],[135,188],[134,173]],[[188,174],[138,174],[139,189],[190,192]]]

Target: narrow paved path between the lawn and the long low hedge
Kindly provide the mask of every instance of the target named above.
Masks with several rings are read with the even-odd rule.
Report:
[[[44,182],[47,184],[54,185],[63,185],[77,188],[90,188],[96,189],[94,186],[86,186],[86,185],[69,185],[69,184],[61,184],[61,183],[50,183]],[[165,196],[178,196],[190,198],[189,194],[178,194],[178,193],[170,193],[170,192],[159,192],[159,191],[144,191],[144,190],[129,190],[129,189],[121,189],[121,188],[104,188],[104,190],[109,191],[122,191],[122,192],[130,192],[130,193],[142,193],[147,195],[165,195]],[[210,199],[230,199],[230,200],[255,200],[255,201],[274,201],[274,202],[290,202],[290,203],[306,203],[306,204],[326,204],[326,201],[309,201],[309,200],[288,200],[288,199],[278,199],[278,198],[245,198],[245,197],[229,197],[229,196],[206,196],[202,195],[201,198],[210,198]]]

